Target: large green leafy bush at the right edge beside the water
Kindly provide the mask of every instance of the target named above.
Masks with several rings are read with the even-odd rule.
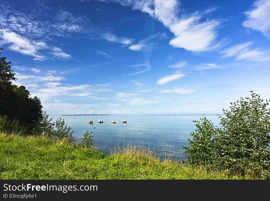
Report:
[[[185,149],[187,162],[218,170],[270,178],[270,101],[251,91],[224,110],[221,128],[206,117],[196,124]]]

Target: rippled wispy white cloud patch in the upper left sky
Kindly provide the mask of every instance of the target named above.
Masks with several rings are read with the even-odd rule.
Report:
[[[34,5],[35,3],[33,2]],[[7,45],[12,51],[32,56],[34,60],[47,60],[50,58],[47,54],[56,58],[71,58],[71,55],[63,52],[60,47],[51,45],[52,40],[49,36],[84,33],[85,29],[82,29],[81,25],[85,24],[87,19],[63,10],[50,15],[44,12],[48,7],[38,2],[37,4],[39,8],[28,13],[2,4],[2,8],[5,9],[0,13],[0,43]],[[44,18],[40,17],[41,13]]]

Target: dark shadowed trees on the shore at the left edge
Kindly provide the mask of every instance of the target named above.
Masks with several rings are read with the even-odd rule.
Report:
[[[0,50],[3,50],[0,48]],[[0,52],[1,54],[1,52]],[[6,57],[0,58],[0,115],[10,120],[17,119],[20,123],[32,130],[42,116],[42,105],[39,98],[30,97],[25,86],[18,87],[12,84],[15,73],[11,69],[11,61]]]

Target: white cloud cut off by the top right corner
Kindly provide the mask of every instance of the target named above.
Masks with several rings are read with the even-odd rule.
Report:
[[[270,0],[258,0],[253,3],[252,9],[245,12],[247,20],[242,25],[262,32],[270,39]]]

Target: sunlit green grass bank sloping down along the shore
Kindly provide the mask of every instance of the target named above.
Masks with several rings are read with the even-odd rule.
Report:
[[[246,177],[244,177],[246,178]],[[109,156],[45,136],[0,133],[0,179],[244,179],[203,167],[160,161],[130,146]]]

